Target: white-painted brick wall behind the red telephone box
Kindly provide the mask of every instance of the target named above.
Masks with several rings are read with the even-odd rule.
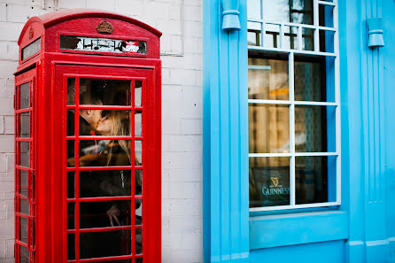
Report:
[[[162,262],[202,262],[201,0],[59,0],[99,8],[162,31]],[[13,262],[13,75],[17,40],[54,0],[0,0],[0,263]]]

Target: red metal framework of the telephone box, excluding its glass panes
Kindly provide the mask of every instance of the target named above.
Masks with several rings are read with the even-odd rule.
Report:
[[[96,32],[97,23],[105,19],[114,27],[113,35],[101,35]],[[84,27],[81,28],[81,23]],[[32,29],[30,29],[32,28]],[[29,38],[30,31],[34,36]],[[147,54],[112,54],[89,52],[70,52],[59,50],[59,32],[65,35],[89,35],[100,38],[113,39],[143,39],[147,42]],[[38,37],[42,38],[42,50],[23,61],[19,59],[19,67],[16,74],[16,90],[24,81],[32,81],[33,106],[31,120],[33,123],[33,135],[31,138],[19,138],[19,113],[30,110],[16,108],[15,117],[15,158],[19,160],[19,141],[32,143],[32,167],[29,173],[35,174],[35,181],[30,181],[27,176],[27,184],[35,182],[35,190],[29,190],[29,202],[32,204],[34,214],[27,224],[28,237],[30,226],[35,226],[35,244],[22,244],[19,241],[19,216],[15,213],[16,233],[16,263],[19,263],[19,245],[31,245],[30,262],[58,263],[58,262],[100,262],[103,260],[143,258],[144,263],[155,263],[161,260],[161,120],[160,120],[160,83],[161,62],[159,59],[159,36],[160,32],[135,19],[109,12],[97,11],[64,11],[53,12],[29,19],[19,37],[20,50],[32,43]],[[140,57],[140,58],[138,58]],[[143,57],[143,58],[142,58]],[[67,78],[75,79],[74,105],[66,105]],[[79,79],[98,78],[107,80],[130,81],[131,105],[130,106],[87,106],[79,104]],[[134,104],[135,81],[143,81],[142,105]],[[19,93],[16,93],[15,103],[19,104]],[[74,136],[66,136],[66,111],[80,109],[102,110],[128,110],[131,112],[132,131],[130,136],[80,136],[78,134],[79,115],[74,118]],[[143,112],[142,135],[135,136],[134,112]],[[143,165],[135,166],[95,166],[80,167],[75,162],[74,167],[66,167],[66,141],[74,140],[75,159],[78,159],[79,140],[104,140],[123,139],[131,140],[132,154],[134,155],[135,141],[142,142]],[[132,155],[132,156],[133,156]],[[15,166],[15,209],[19,209],[19,169]],[[131,179],[131,196],[129,197],[81,197],[79,196],[79,172],[80,171],[104,171],[104,170],[143,170],[143,194],[135,196],[134,180]],[[75,193],[74,198],[67,199],[67,172],[74,172]],[[134,173],[131,173],[134,174]],[[133,176],[133,175],[132,175]],[[135,226],[135,199],[143,200],[143,223]],[[130,226],[113,228],[79,228],[79,213],[75,213],[74,229],[67,230],[67,204],[74,203],[75,211],[79,211],[81,202],[96,202],[108,200],[129,200],[132,205]],[[132,209],[133,208],[133,209]],[[32,228],[33,229],[33,228]],[[131,236],[136,229],[143,231],[142,255],[126,255],[102,259],[79,259],[79,233],[108,231],[117,229],[130,229]],[[75,236],[75,260],[67,260],[67,234]],[[33,240],[33,239],[32,239]],[[135,240],[132,239],[131,248],[135,251]]]

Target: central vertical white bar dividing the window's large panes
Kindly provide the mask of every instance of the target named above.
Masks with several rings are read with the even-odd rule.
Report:
[[[294,92],[294,53],[288,59],[288,85],[290,92],[290,205],[295,205],[295,92]]]

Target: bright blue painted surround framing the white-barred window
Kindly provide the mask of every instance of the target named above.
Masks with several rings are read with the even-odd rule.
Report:
[[[248,210],[246,0],[203,2],[205,262],[394,263],[395,2],[338,3],[342,205],[260,214]],[[229,3],[240,30],[222,29]],[[368,47],[374,17],[381,48]]]

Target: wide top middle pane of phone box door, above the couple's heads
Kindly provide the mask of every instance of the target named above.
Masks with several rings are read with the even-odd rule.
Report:
[[[130,81],[80,79],[80,104],[131,105]]]

